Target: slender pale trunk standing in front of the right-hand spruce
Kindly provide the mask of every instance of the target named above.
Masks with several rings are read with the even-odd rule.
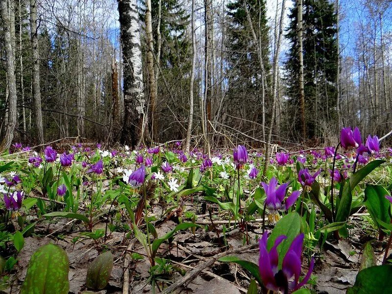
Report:
[[[297,0],[298,23],[297,23],[297,39],[298,39],[298,59],[299,59],[299,105],[301,112],[301,128],[302,138],[306,139],[306,123],[305,123],[305,91],[303,82],[303,49],[302,49],[302,0]]]

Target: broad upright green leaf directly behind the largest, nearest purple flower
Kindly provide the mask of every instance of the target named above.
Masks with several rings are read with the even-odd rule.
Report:
[[[272,230],[268,238],[267,248],[270,250],[275,243],[277,237],[285,235],[287,238],[277,247],[279,255],[279,267],[282,265],[283,257],[294,238],[298,236],[301,228],[301,217],[296,212],[291,212],[280,219]]]

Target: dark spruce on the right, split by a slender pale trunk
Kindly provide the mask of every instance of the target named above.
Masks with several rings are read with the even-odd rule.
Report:
[[[299,62],[297,6],[290,9],[286,37],[290,49],[286,62],[286,83],[294,136],[300,136]],[[303,63],[305,117],[309,138],[322,134],[322,127],[336,120],[337,30],[334,4],[328,0],[303,0]],[[289,126],[291,127],[291,126]],[[294,138],[295,139],[295,138]],[[306,138],[305,138],[306,139]]]

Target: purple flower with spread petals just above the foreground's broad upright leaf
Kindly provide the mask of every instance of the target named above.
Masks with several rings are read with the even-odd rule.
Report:
[[[286,200],[284,197],[286,196],[286,190],[289,186],[289,183],[284,183],[277,187],[278,181],[275,177],[272,177],[270,180],[270,184],[266,184],[264,182],[260,183],[263,186],[264,191],[266,192],[266,208],[269,210],[270,214],[268,216],[271,222],[278,221],[280,216],[278,211],[288,210],[293,203],[298,198],[300,192],[294,191]]]

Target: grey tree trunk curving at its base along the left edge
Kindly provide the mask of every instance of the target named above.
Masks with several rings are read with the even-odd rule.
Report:
[[[7,149],[11,146],[16,126],[16,79],[7,6],[7,1],[0,1],[0,12],[3,25],[3,40],[5,47],[5,70],[8,81],[8,121],[5,135],[0,145],[0,151],[3,151],[4,149]]]

